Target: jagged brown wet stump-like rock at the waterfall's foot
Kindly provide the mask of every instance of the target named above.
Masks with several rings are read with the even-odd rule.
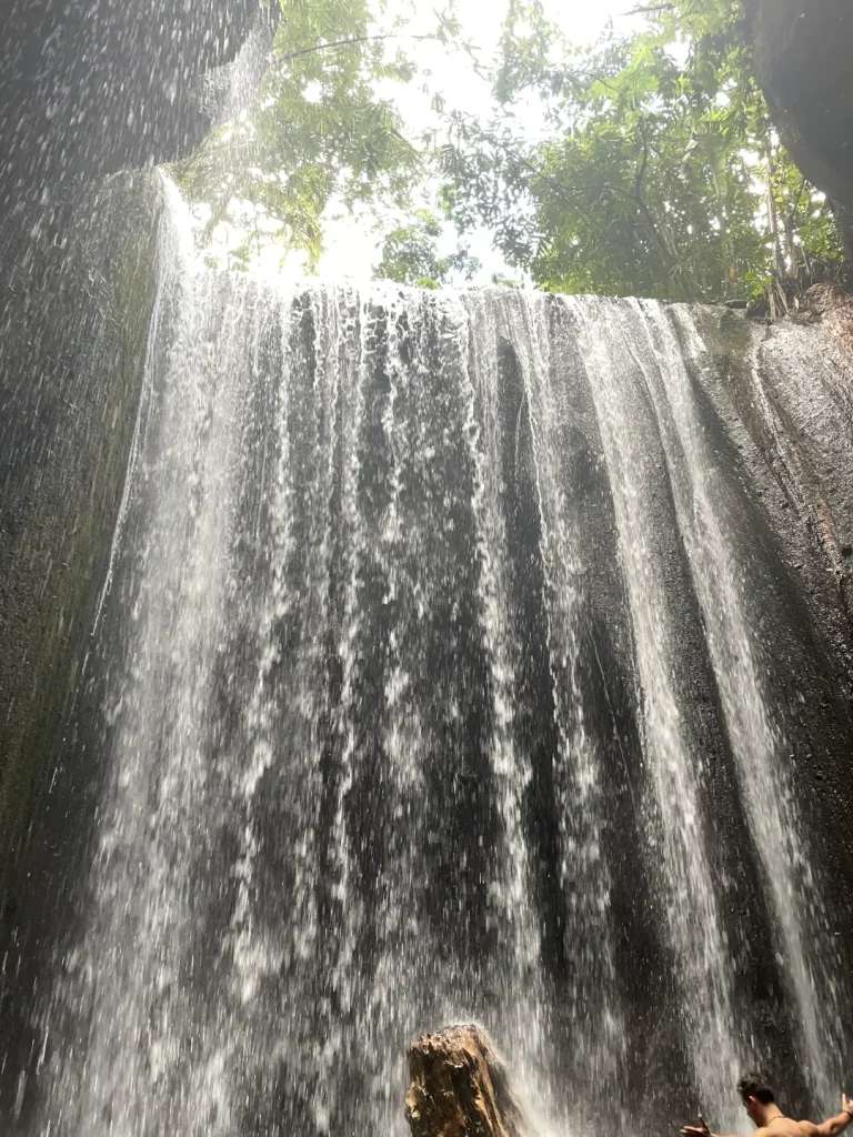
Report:
[[[474,1024],[422,1035],[408,1051],[413,1137],[529,1137],[506,1067]]]

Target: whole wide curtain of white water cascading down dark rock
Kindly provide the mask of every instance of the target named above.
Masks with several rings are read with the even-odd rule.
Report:
[[[403,1132],[407,1041],[461,1018],[544,1130],[734,1124],[744,911],[828,1094],[842,979],[690,312],[288,290],[165,202],[34,1131]]]

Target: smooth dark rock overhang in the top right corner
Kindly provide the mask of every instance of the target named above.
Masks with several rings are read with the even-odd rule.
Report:
[[[853,7],[744,0],[759,77],[803,172],[838,205],[853,256]]]

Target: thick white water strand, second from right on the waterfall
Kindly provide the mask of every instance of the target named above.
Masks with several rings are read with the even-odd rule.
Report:
[[[668,561],[676,526],[655,523],[649,499],[665,480],[662,440],[648,402],[635,342],[614,335],[613,315],[583,301],[578,310],[614,511],[644,702],[643,749],[660,824],[666,922],[684,984],[685,1007],[703,1024],[694,1049],[705,1101],[717,1111],[740,1064],[731,1007],[730,956],[719,911],[712,857],[703,827],[703,739],[684,712],[684,679],[673,662],[684,613],[668,603]],[[604,319],[602,319],[604,315]],[[616,325],[619,326],[619,325]],[[632,329],[643,332],[641,323]],[[669,360],[663,366],[669,365]],[[649,445],[651,439],[651,445]],[[679,698],[679,696],[681,696]]]

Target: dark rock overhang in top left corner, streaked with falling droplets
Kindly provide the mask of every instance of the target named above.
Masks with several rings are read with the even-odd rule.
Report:
[[[233,59],[258,0],[11,0],[0,47],[0,205],[68,198],[172,160],[209,126],[199,77]]]

